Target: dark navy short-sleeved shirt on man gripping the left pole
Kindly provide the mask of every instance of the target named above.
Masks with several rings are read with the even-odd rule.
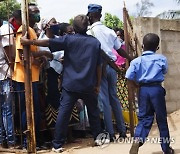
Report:
[[[90,93],[97,83],[101,64],[100,42],[90,35],[65,35],[49,40],[50,50],[64,50],[62,87],[67,91]]]

